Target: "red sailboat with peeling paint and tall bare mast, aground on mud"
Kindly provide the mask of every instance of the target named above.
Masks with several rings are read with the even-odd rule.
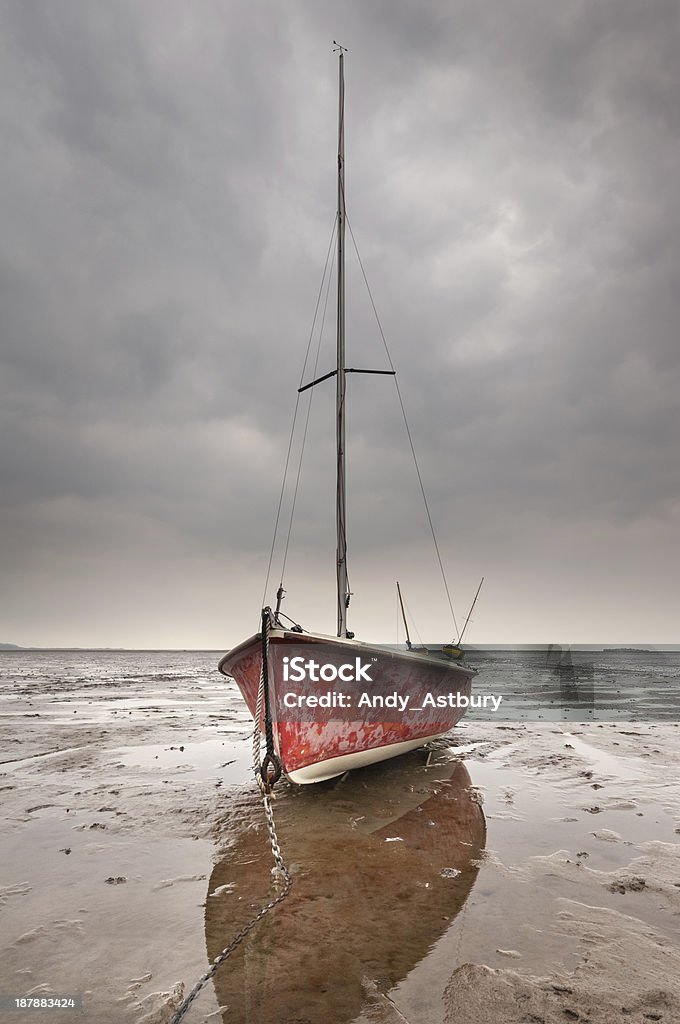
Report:
[[[266,736],[261,777],[267,785],[282,772],[292,782],[321,782],[445,735],[469,703],[475,675],[463,664],[461,637],[438,647],[416,646],[406,615],[406,647],[356,639],[347,626],[346,380],[350,373],[393,375],[394,370],[345,364],[344,53],[338,50],[337,365],[299,389],[336,378],[337,635],[302,630],[284,616],[282,584],[275,608],[262,609],[260,631],[219,663]]]

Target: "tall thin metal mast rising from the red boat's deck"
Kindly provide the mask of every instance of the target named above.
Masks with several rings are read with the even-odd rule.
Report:
[[[338,636],[347,636],[347,537],[345,508],[345,80],[339,50],[338,108],[338,331],[336,390],[336,528],[338,579]]]

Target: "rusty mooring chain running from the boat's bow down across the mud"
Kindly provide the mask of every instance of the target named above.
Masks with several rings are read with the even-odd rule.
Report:
[[[197,995],[201,991],[204,985],[206,985],[210,979],[215,975],[217,969],[221,967],[224,961],[228,959],[233,950],[243,942],[246,936],[255,928],[264,918],[269,910],[273,910],[274,906],[283,902],[288,896],[292,880],[288,868],[284,862],[284,857],[281,852],[281,847],[279,846],[279,838],[277,836],[277,827],[273,820],[273,811],[271,810],[271,786],[281,777],[281,762],[277,757],[273,749],[273,730],[271,725],[271,713],[269,708],[269,689],[268,689],[268,678],[267,678],[267,650],[269,645],[269,624],[270,624],[270,613],[268,608],[263,608],[262,610],[262,670],[260,672],[260,685],[257,693],[257,708],[255,711],[255,727],[253,729],[253,769],[255,771],[255,777],[257,779],[257,784],[262,796],[262,804],[264,806],[264,815],[267,822],[267,831],[269,834],[269,843],[271,845],[271,855],[274,860],[275,867],[272,868],[272,874],[275,879],[275,884],[281,885],[283,880],[283,889],[278,896],[270,899],[268,903],[265,904],[259,910],[252,921],[249,921],[241,931],[235,935],[235,937],[229,942],[228,946],[222,949],[221,953],[214,958],[209,969],[203,975],[202,978],[196,983],[192,991],[188,993],[184,1001],[181,1004],[177,1013],[172,1018],[170,1024],[179,1024],[179,1021],[188,1012],[192,1004],[196,999]],[[264,706],[265,715],[265,735],[267,743],[267,753],[265,755],[264,761],[261,761],[260,746],[260,719],[262,716],[262,707]]]

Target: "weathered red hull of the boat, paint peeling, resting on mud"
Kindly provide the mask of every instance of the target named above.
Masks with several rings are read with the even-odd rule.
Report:
[[[253,717],[261,649],[258,634],[219,665],[236,680]],[[307,671],[300,679],[303,663],[314,667],[314,678]],[[301,783],[333,778],[444,735],[464,714],[457,698],[469,698],[474,675],[447,658],[280,629],[269,634],[267,667],[277,753],[286,775]],[[344,706],[316,710],[320,696],[329,703],[340,696]]]

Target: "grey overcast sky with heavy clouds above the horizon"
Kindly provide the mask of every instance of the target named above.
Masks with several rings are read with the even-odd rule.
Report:
[[[3,0],[0,641],[253,632],[335,216],[333,39],[348,215],[459,618],[486,578],[468,639],[680,640],[679,18]],[[348,365],[382,368],[351,256]],[[449,639],[393,382],[348,385],[349,627],[396,639],[398,579]],[[333,401],[314,389],[285,605],[328,632]]]

